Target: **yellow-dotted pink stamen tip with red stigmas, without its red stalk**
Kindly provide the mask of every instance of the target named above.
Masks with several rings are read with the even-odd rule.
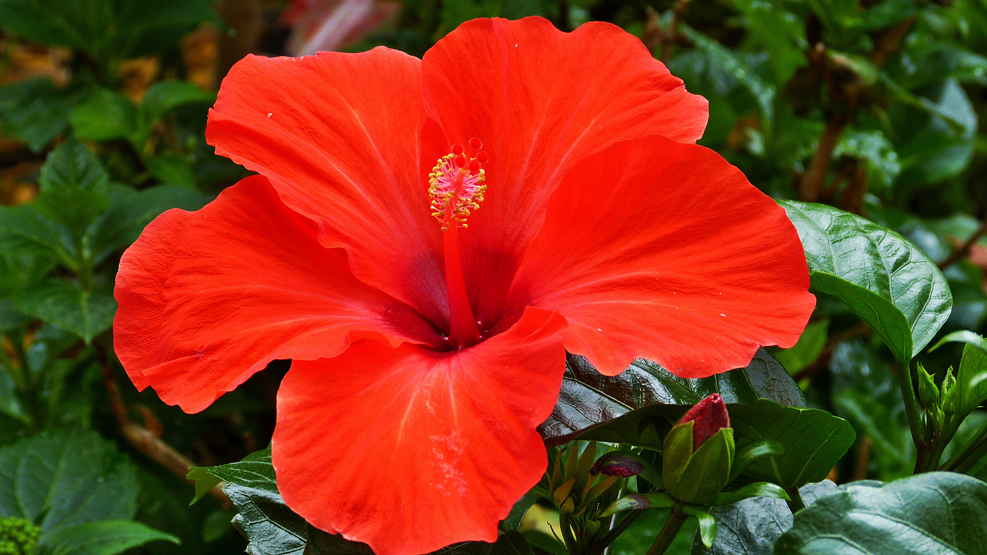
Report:
[[[470,210],[480,207],[487,192],[483,165],[490,159],[483,150],[483,141],[472,138],[469,152],[463,145],[452,145],[452,152],[438,159],[428,174],[428,196],[432,215],[442,222],[442,231],[449,227],[469,227],[466,218]]]

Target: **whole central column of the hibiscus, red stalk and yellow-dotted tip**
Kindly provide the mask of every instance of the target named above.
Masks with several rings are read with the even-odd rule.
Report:
[[[452,145],[452,152],[439,158],[432,173],[428,174],[432,215],[442,224],[445,286],[449,295],[449,342],[457,349],[483,340],[466,291],[459,253],[459,228],[467,227],[470,210],[479,208],[484,199],[487,186],[483,164],[490,157],[481,150],[484,143],[480,139],[472,138],[468,145],[469,152],[461,144]]]

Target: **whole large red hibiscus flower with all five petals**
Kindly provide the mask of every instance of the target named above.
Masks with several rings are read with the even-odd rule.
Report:
[[[275,358],[287,505],[383,555],[493,541],[569,350],[685,377],[793,345],[796,230],[693,144],[707,103],[604,23],[475,20],[423,59],[248,56],[206,136],[258,172],[116,278],[138,388],[201,411]]]

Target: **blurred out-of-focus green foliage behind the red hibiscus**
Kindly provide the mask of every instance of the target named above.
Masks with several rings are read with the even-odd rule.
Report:
[[[195,209],[246,175],[205,144],[206,111],[227,60],[285,53],[284,8],[0,0],[0,193],[10,204],[0,206],[0,459],[43,442],[38,434],[91,431],[79,437],[126,469],[119,488],[132,504],[93,521],[136,518],[180,538],[182,553],[237,553],[246,543],[228,506],[206,497],[189,507],[191,486],[121,426],[203,465],[239,460],[266,445],[287,364],[201,414],[168,407],[136,392],[114,357],[112,284],[120,253],[151,219]],[[421,56],[469,19],[532,15],[564,31],[606,21],[644,40],[709,99],[701,144],[767,195],[828,203],[901,233],[944,265],[954,307],[943,332],[983,333],[987,0],[408,0],[344,49],[383,44]],[[133,67],[150,68],[136,85]],[[835,476],[910,474],[901,368],[844,303],[818,296],[805,337],[778,357],[810,406],[857,432]],[[917,358],[942,384],[960,355],[950,344]],[[944,460],[985,420],[974,413]],[[972,466],[975,474],[984,463]],[[2,503],[0,516],[11,516]],[[641,552],[656,518],[632,526],[615,552]],[[179,549],[151,528],[146,540],[158,541],[141,552]],[[687,552],[688,539],[675,549]]]

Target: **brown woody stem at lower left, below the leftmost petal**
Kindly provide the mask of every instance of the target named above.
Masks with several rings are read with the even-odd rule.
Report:
[[[110,411],[113,412],[116,422],[120,425],[120,434],[131,447],[141,454],[164,466],[179,478],[187,480],[186,474],[189,473],[189,467],[195,466],[195,463],[143,426],[130,422],[113,370],[105,357],[101,358],[103,358],[101,360],[103,384],[107,388],[107,396],[110,397]],[[192,480],[187,481],[194,483]],[[223,493],[222,486],[223,483],[217,484],[209,490],[209,494],[216,498],[224,509],[229,509],[232,504],[226,494]]]

